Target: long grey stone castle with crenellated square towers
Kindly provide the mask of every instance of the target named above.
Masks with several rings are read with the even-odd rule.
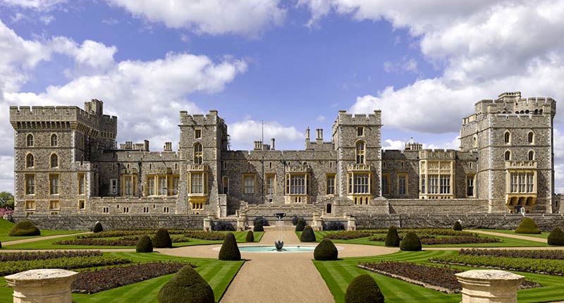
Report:
[[[166,142],[116,144],[102,101],[11,106],[16,215],[515,214],[559,212],[554,194],[556,101],[506,92],[462,119],[460,149],[381,148],[381,111],[338,111],[305,149],[255,142],[230,150],[217,111],[180,111],[177,151]]]

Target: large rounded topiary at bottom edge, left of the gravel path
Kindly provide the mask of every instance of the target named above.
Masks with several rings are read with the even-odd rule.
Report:
[[[159,291],[159,303],[214,303],[214,290],[192,266],[184,266]]]

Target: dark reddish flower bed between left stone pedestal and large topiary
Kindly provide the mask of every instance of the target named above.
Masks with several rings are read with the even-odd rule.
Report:
[[[73,292],[87,294],[102,292],[123,285],[139,283],[151,278],[176,273],[186,265],[189,264],[182,262],[154,262],[115,266],[95,271],[82,271],[73,283]]]

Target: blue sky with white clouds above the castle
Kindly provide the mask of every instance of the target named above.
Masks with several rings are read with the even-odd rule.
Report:
[[[219,111],[231,149],[303,149],[339,110],[382,111],[382,145],[458,149],[462,118],[502,92],[557,100],[564,192],[564,1],[0,0],[0,191],[8,106],[118,116],[118,142],[178,147],[179,111]],[[314,131],[312,131],[314,135]]]

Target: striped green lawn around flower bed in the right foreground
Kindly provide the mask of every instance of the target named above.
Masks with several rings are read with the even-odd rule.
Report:
[[[325,280],[329,290],[336,302],[343,302],[348,284],[356,276],[368,273],[378,283],[386,302],[460,302],[462,295],[447,295],[443,292],[430,290],[428,288],[403,282],[394,278],[365,271],[357,268],[357,264],[367,261],[411,261],[418,264],[429,264],[427,260],[433,256],[442,254],[455,254],[451,251],[423,251],[423,252],[397,252],[384,256],[370,256],[362,258],[345,258],[338,261],[313,261],[321,277]],[[452,266],[465,270],[476,269],[465,266]],[[529,280],[541,283],[543,287],[528,290],[519,290],[517,297],[519,302],[552,302],[564,300],[564,292],[561,285],[564,277],[539,275],[534,273],[520,273]]]

